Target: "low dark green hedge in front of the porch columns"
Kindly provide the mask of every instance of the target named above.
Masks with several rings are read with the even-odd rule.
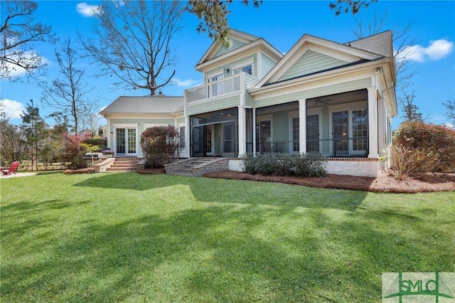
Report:
[[[272,176],[326,176],[326,160],[320,154],[263,154],[242,156],[247,174]]]

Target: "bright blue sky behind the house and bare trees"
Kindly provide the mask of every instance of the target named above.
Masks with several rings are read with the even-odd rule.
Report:
[[[97,1],[37,1],[36,18],[53,27],[63,41],[76,41],[76,31],[90,35],[92,17],[87,7]],[[379,0],[359,14],[335,16],[328,8],[328,1],[269,1],[264,0],[259,9],[244,6],[240,1],[230,5],[229,25],[245,33],[267,40],[282,53],[286,53],[301,36],[308,33],[338,43],[355,40],[353,31],[357,28],[355,18],[363,23],[373,21],[373,16],[382,16],[387,11],[385,30],[397,29],[413,22],[412,36],[417,43],[410,46],[410,58],[419,73],[414,76],[415,104],[428,122],[443,124],[449,122],[444,113],[444,100],[455,100],[455,1],[386,1]],[[166,95],[183,95],[183,90],[202,83],[202,74],[194,66],[203,56],[212,41],[205,33],[197,33],[198,19],[184,14],[183,29],[174,37],[176,52],[175,84],[166,87]],[[53,47],[46,43],[35,43],[34,48],[48,61],[49,79],[56,78],[56,63]],[[86,75],[93,70],[88,63],[82,63]],[[148,91],[112,90],[111,79],[87,78],[95,87],[89,97],[97,100],[100,110],[120,95],[147,95]],[[41,105],[41,88],[28,83],[9,83],[1,80],[0,97],[4,99],[11,122],[20,123],[21,114],[29,100],[33,99],[45,117],[53,110]],[[394,119],[396,129],[402,113]],[[48,120],[52,124],[52,120]],[[101,124],[104,123],[101,121]]]

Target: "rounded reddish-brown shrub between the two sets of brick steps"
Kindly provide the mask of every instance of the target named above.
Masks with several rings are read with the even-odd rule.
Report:
[[[141,148],[147,167],[161,167],[178,157],[180,141],[175,127],[151,127],[141,134]]]

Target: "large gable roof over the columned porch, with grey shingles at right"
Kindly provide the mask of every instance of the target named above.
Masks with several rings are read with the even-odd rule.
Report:
[[[323,57],[321,58],[323,60],[333,60],[331,60],[329,65],[321,65],[319,70],[314,68],[313,70],[308,70],[308,73],[305,73],[305,70],[302,69],[300,71],[301,73],[294,75],[294,78],[388,57],[391,53],[391,43],[391,31],[386,31],[347,44],[304,34],[291,50],[279,60],[277,65],[275,65],[274,68],[257,83],[256,87],[262,87],[264,85],[291,79],[292,77],[290,75],[285,75],[285,73],[291,70],[293,65],[298,63],[299,60],[303,64],[306,60],[304,55],[309,55],[309,50],[314,53],[319,53],[321,57]]]

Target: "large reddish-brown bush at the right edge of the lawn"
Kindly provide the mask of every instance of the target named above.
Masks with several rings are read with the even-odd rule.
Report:
[[[395,170],[404,167],[402,162],[409,162],[410,166],[417,166],[411,170],[410,176],[428,171],[455,171],[454,129],[424,122],[405,122],[395,132],[393,142],[392,165]]]

